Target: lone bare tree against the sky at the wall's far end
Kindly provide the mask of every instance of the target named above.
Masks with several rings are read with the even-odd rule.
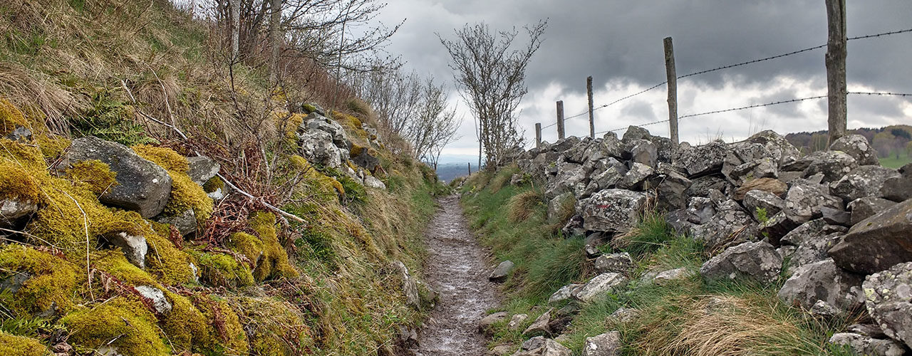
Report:
[[[456,39],[447,40],[440,34],[440,43],[447,48],[452,62],[453,77],[460,86],[461,96],[470,104],[477,117],[485,164],[500,165],[511,148],[522,145],[522,134],[516,125],[516,110],[528,89],[525,68],[535,51],[542,45],[547,20],[523,28],[529,42],[521,49],[511,49],[519,32],[492,32],[485,24],[465,25],[456,30]],[[482,148],[480,148],[481,150]]]

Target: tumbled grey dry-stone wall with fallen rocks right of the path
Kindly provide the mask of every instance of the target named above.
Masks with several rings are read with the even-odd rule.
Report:
[[[518,150],[513,161],[527,173],[512,184],[546,184],[549,215],[575,202],[563,231],[585,236],[586,254],[595,259],[596,277],[556,290],[550,302],[586,302],[624,286],[630,257],[596,246],[634,229],[644,210],[658,209],[712,253],[700,268],[703,279],[769,284],[785,276],[782,302],[824,319],[860,313],[858,320],[869,320],[830,342],[870,355],[902,355],[912,346],[912,165],[881,167],[865,137],[842,137],[828,151],[804,156],[772,131],[675,147],[629,127],[621,139],[569,137]],[[663,283],[689,273],[655,271],[643,279]],[[535,320],[524,333],[535,337],[514,355],[570,355],[548,339],[560,340],[566,312],[572,310]],[[610,331],[589,338],[583,354],[615,355],[619,347],[619,334]]]

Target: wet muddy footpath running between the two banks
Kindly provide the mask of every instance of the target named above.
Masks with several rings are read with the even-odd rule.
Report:
[[[418,356],[484,355],[487,348],[478,333],[485,310],[497,306],[496,286],[484,252],[469,230],[458,196],[440,199],[441,209],[427,236],[427,278],[440,292],[440,301],[420,332]]]

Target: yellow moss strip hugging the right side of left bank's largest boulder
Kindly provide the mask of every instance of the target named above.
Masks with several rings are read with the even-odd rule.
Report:
[[[132,148],[141,158],[149,159],[168,170],[171,176],[171,197],[165,206],[165,214],[175,216],[192,209],[196,220],[201,224],[212,216],[212,198],[187,176],[187,158],[167,147],[138,145]]]

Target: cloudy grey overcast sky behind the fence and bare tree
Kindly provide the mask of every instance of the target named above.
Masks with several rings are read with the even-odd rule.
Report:
[[[850,37],[912,28],[912,1],[847,3]],[[452,90],[450,58],[435,34],[452,38],[453,30],[467,23],[510,29],[548,18],[544,44],[528,67],[529,94],[521,104],[520,124],[533,143],[534,124],[554,122],[556,100],[564,100],[567,117],[586,111],[586,76],[594,78],[596,107],[664,81],[666,36],[674,39],[679,76],[826,43],[824,0],[390,0],[378,18],[389,25],[404,18],[387,50],[407,61],[406,70],[435,76]],[[826,95],[824,53],[822,48],[683,78],[679,115]],[[910,58],[912,33],[850,41],[849,90],[912,92]],[[666,96],[660,86],[596,110],[596,131],[666,119]],[[451,98],[465,121],[462,138],[444,154],[477,155],[467,104],[455,91]],[[567,135],[588,135],[586,121],[587,116],[568,120]],[[849,128],[912,124],[912,100],[850,96],[848,122]],[[762,129],[782,134],[821,130],[826,128],[826,100],[684,118],[679,127],[681,140],[691,143],[742,139]],[[555,128],[544,130],[544,140],[554,142]],[[647,128],[668,137],[667,124]]]

